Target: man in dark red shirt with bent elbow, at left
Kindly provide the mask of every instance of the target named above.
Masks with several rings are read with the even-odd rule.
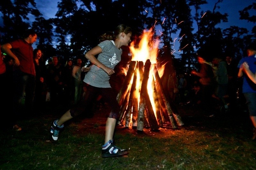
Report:
[[[33,30],[28,30],[24,39],[18,39],[2,46],[3,51],[14,59],[13,71],[13,104],[14,114],[32,114],[33,100],[36,86],[36,71],[33,62],[33,47],[37,35]],[[26,95],[25,95],[26,94]],[[22,109],[22,99],[25,95],[25,111]],[[17,116],[14,116],[15,120]],[[16,130],[21,130],[17,126]]]

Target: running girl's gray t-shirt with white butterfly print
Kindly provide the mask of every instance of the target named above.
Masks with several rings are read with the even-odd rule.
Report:
[[[97,59],[105,66],[114,69],[121,61],[122,49],[116,48],[114,41],[109,40],[100,42],[98,46],[102,49],[102,53],[98,55]],[[109,78],[110,76],[104,70],[93,64],[85,75],[84,82],[94,87],[109,88],[111,87]]]

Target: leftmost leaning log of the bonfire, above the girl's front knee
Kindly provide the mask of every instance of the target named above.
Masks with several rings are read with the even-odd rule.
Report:
[[[117,94],[116,100],[120,106],[122,105],[124,98],[126,96],[126,93],[128,92],[128,89],[130,88],[130,83],[131,83],[132,75],[134,73],[135,65],[136,65],[136,61],[130,62],[129,69],[127,71],[127,75],[124,79],[124,83],[123,83],[121,89],[119,90],[119,93]]]

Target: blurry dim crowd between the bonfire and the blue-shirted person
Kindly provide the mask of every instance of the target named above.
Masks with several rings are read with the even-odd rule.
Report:
[[[194,68],[190,73],[180,73],[175,80],[175,86],[178,86],[178,91],[175,91],[176,103],[178,101],[181,106],[189,104],[200,107],[206,115],[233,112],[237,98],[240,97],[236,95],[237,90],[241,90],[237,64],[230,56],[214,57],[212,61],[206,61],[198,55],[197,59],[200,64],[198,71]]]

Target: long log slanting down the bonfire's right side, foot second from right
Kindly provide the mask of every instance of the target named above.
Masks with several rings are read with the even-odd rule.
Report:
[[[155,78],[156,78],[158,88],[161,92],[162,99],[163,99],[165,107],[167,109],[168,116],[169,116],[172,128],[175,129],[175,128],[177,128],[177,126],[175,125],[175,122],[174,122],[174,118],[173,118],[173,115],[172,115],[172,109],[170,107],[170,104],[169,104],[167,98],[165,97],[165,94],[164,94],[164,91],[163,91],[163,85],[162,85],[161,79],[159,77],[158,71],[156,69],[156,65],[154,66],[154,74],[155,74]]]

